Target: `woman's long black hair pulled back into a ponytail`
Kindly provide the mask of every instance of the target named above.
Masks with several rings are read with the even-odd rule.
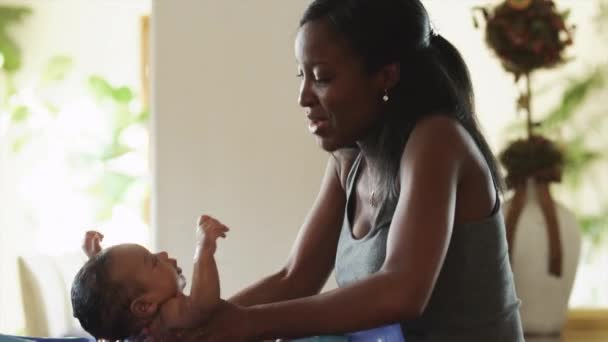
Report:
[[[458,50],[431,27],[419,0],[314,0],[300,27],[325,21],[362,58],[368,72],[399,63],[374,146],[383,197],[397,197],[399,162],[415,124],[429,115],[457,120],[483,154],[497,189],[503,180],[475,118],[469,70]]]

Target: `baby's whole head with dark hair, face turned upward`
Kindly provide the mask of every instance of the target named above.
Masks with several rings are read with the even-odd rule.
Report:
[[[160,306],[183,290],[185,279],[166,252],[135,244],[106,248],[90,258],[72,283],[74,317],[97,339],[138,335]]]

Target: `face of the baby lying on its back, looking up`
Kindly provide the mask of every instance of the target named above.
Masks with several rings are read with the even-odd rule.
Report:
[[[181,268],[166,252],[152,254],[135,244],[114,246],[107,252],[112,253],[112,277],[142,287],[161,302],[181,293],[186,285]]]

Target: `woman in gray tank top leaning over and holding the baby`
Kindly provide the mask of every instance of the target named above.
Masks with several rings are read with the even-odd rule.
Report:
[[[316,0],[299,103],[331,153],[286,265],[196,338],[249,341],[399,322],[408,342],[523,341],[500,176],[457,50],[419,0]],[[339,288],[319,294],[332,269]]]

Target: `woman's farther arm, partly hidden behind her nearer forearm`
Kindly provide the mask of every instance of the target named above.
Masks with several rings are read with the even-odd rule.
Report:
[[[229,301],[241,306],[265,304],[317,294],[333,269],[346,197],[339,164],[327,163],[319,195],[308,214],[286,265],[244,289]]]

